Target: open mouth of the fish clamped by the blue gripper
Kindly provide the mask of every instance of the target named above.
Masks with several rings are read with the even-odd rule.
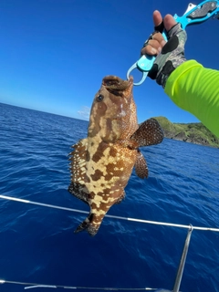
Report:
[[[109,75],[102,79],[102,85],[110,91],[124,91],[133,86],[133,77],[130,76],[129,80],[123,80],[117,76]]]

